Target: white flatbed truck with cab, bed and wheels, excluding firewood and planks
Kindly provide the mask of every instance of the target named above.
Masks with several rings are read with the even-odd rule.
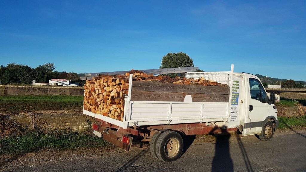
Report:
[[[257,76],[234,73],[233,65],[229,72],[188,72],[189,69],[171,68],[164,73],[180,72],[185,78],[204,77],[227,84],[230,87],[228,101],[194,102],[188,93],[184,101],[179,102],[134,101],[131,100],[133,82],[130,77],[123,121],[83,110],[84,114],[98,121],[93,124],[93,133],[127,151],[131,150],[133,143],[149,142],[151,154],[164,162],[174,161],[181,156],[182,137],[188,135],[239,130],[242,136],[258,135],[264,141],[272,139],[278,127],[274,93],[268,97]],[[195,68],[191,71],[194,70]],[[154,73],[154,69],[142,71]],[[99,74],[106,73],[89,73],[85,79]]]

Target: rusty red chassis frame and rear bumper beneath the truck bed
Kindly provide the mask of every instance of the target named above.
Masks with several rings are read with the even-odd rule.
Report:
[[[140,148],[143,148],[143,143],[150,142],[155,133],[162,133],[164,129],[175,131],[182,136],[190,136],[197,134],[213,134],[224,133],[229,131],[237,131],[238,128],[222,129],[217,125],[207,125],[207,123],[190,123],[190,124],[172,124],[172,125],[150,125],[150,126],[135,126],[123,129],[117,125],[95,119],[98,122],[93,124],[93,133],[104,140],[123,148],[126,151],[131,151],[132,144],[140,143]],[[122,137],[130,138],[129,144],[122,141]]]

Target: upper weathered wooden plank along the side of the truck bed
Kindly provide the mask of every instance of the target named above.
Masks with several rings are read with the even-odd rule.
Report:
[[[132,81],[133,91],[230,95],[230,87]]]

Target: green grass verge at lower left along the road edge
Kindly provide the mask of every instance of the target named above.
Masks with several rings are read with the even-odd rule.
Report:
[[[110,143],[87,133],[71,132],[56,136],[32,131],[20,136],[0,138],[0,155],[27,153],[39,149],[101,148],[107,145]]]

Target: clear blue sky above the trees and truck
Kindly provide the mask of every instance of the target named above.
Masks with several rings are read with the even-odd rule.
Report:
[[[0,1],[0,64],[77,73],[155,69],[306,80],[306,1]]]

